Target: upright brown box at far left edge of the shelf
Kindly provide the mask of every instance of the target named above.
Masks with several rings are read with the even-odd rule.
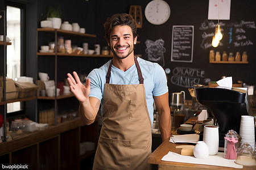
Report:
[[[2,91],[3,91],[2,78],[0,80],[0,87],[2,87]],[[15,87],[15,82],[13,79],[6,78],[6,100],[14,100],[14,99],[18,99],[18,91]]]

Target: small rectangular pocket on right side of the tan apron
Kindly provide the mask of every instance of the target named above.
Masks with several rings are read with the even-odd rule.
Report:
[[[141,119],[141,100],[130,100],[130,120]]]

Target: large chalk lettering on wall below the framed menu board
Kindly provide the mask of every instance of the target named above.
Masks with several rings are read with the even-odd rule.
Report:
[[[209,78],[204,77],[204,70],[189,67],[175,67],[172,70],[171,83],[180,87],[190,88],[194,84],[200,84],[202,78],[204,79],[204,83],[210,82]]]

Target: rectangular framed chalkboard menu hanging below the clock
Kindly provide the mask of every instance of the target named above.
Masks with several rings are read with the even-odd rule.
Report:
[[[172,27],[172,62],[193,61],[193,25],[173,25]]]

